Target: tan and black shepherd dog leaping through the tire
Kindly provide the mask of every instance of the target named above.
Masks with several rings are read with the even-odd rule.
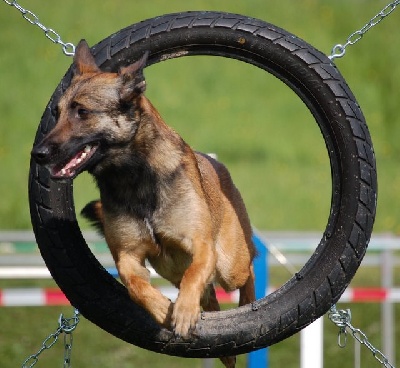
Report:
[[[57,124],[32,150],[53,180],[93,175],[100,200],[82,210],[106,239],[132,300],[186,337],[217,311],[214,282],[255,300],[252,229],[223,164],[194,152],[145,97],[148,52],[102,72],[86,41],[55,111]],[[145,260],[179,289],[175,303],[154,288]],[[234,367],[234,358],[222,358]]]

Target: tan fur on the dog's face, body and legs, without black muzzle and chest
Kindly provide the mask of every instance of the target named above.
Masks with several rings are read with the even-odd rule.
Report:
[[[158,178],[158,201],[151,216],[137,218],[106,208],[107,194],[98,182],[101,202],[95,204],[94,217],[133,301],[160,325],[187,336],[196,326],[200,307],[219,310],[214,282],[227,291],[239,289],[240,305],[254,301],[252,231],[225,166],[194,152],[142,93],[135,94],[129,83],[138,63],[119,74],[101,73],[88,49],[80,46],[76,75],[60,99],[58,123],[43,144],[62,146],[93,132],[112,137],[120,145],[110,146],[92,169],[98,181],[102,170],[122,165],[129,155],[145,157]],[[144,81],[140,83],[143,88]],[[120,99],[128,98],[135,106],[130,118],[116,113]],[[76,105],[91,112],[84,121]],[[146,260],[179,288],[175,303],[150,284]],[[222,360],[227,367],[235,365],[234,357]]]

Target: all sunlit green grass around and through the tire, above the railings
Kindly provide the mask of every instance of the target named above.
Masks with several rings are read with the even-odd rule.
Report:
[[[343,42],[385,1],[87,1],[30,9],[66,41],[94,44],[142,19],[184,10],[225,10],[262,18],[322,51]],[[79,9],[79,10],[78,10]],[[301,15],[300,15],[301,14]],[[29,153],[41,113],[71,59],[42,32],[2,4],[0,47],[0,228],[30,228]],[[369,124],[378,161],[376,231],[400,231],[396,13],[371,30],[337,64]],[[254,67],[218,58],[182,58],[146,70],[148,96],[195,148],[215,152],[241,189],[252,222],[268,230],[322,230],[330,178],[322,139],[305,107],[280,82]],[[76,203],[97,196],[90,179],[76,182]],[[86,225],[84,225],[86,226]]]

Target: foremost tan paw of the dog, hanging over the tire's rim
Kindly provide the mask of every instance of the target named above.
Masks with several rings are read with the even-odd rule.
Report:
[[[185,303],[177,299],[173,312],[171,326],[178,336],[187,337],[192,332],[200,317],[200,305]]]

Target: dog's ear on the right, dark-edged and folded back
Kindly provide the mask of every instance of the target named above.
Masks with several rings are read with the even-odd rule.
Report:
[[[120,90],[121,101],[128,103],[146,90],[143,69],[146,66],[148,57],[149,52],[146,51],[138,61],[119,70],[118,74],[122,82]]]

